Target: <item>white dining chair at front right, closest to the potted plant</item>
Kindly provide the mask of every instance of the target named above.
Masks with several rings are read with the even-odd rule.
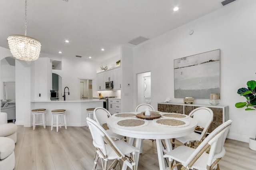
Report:
[[[181,145],[166,153],[164,158],[169,159],[169,170],[178,165],[182,165],[181,170],[219,170],[218,162],[226,153],[224,142],[231,123],[228,120],[217,127],[196,149]],[[176,161],[180,163],[174,164]]]

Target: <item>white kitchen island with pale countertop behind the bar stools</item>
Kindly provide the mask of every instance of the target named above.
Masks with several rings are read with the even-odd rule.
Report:
[[[64,100],[31,101],[31,109],[46,109],[46,115],[45,115],[46,126],[51,126],[51,121],[52,121],[51,111],[54,109],[66,109],[67,126],[72,126],[72,127],[86,126],[87,125],[86,109],[95,108],[95,107],[103,107],[103,100],[84,99],[84,100],[66,100],[66,101]],[[41,117],[39,117],[38,119],[41,119]]]

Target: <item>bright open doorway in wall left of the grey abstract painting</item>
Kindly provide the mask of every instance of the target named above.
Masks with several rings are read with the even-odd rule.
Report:
[[[151,72],[137,74],[137,105],[146,103],[151,105]]]

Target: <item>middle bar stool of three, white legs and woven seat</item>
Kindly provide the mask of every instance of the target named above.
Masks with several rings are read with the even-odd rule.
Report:
[[[63,115],[63,117],[64,117],[64,123],[61,123],[61,117],[60,117],[61,115]],[[56,117],[56,125],[53,124],[54,116],[57,116]],[[60,122],[59,122],[59,117],[60,117]],[[52,126],[51,126],[51,130],[52,130],[53,127],[56,127],[56,131],[58,132],[59,127],[61,128],[61,126],[65,126],[65,129],[67,129],[66,110],[65,109],[52,110]]]

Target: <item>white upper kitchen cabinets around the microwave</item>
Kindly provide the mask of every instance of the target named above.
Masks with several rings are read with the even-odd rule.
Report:
[[[121,89],[122,81],[122,70],[120,67],[110,69],[107,71],[102,71],[97,74],[98,90],[106,90],[105,83],[107,81],[113,81],[113,90]]]

